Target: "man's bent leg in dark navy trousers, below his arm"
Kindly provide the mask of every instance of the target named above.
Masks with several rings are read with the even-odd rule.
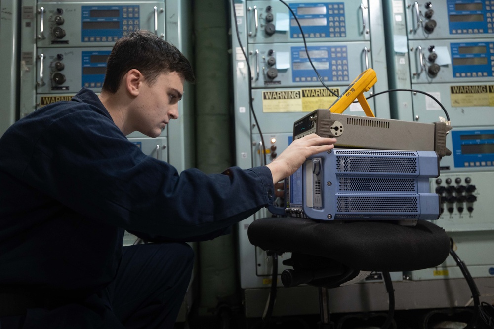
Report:
[[[124,247],[109,287],[115,315],[126,328],[173,328],[193,263],[194,253],[185,243]]]

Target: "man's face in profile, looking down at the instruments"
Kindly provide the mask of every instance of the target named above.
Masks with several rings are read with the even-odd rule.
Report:
[[[184,80],[176,73],[162,73],[153,85],[143,83],[132,115],[135,130],[157,137],[171,119],[178,118]]]

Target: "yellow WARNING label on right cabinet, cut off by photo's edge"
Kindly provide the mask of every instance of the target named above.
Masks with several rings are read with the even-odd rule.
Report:
[[[494,85],[450,86],[451,106],[494,106]]]

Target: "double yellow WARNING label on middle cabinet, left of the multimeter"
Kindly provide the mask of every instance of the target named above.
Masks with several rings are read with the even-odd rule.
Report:
[[[303,88],[284,91],[263,91],[262,111],[265,113],[312,112],[327,109],[338,98],[339,88]],[[333,94],[334,93],[334,94]]]

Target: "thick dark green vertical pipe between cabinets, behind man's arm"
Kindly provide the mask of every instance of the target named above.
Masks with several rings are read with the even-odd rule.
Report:
[[[194,2],[197,168],[219,173],[232,165],[228,3]],[[199,312],[215,309],[236,292],[233,234],[199,244]]]

